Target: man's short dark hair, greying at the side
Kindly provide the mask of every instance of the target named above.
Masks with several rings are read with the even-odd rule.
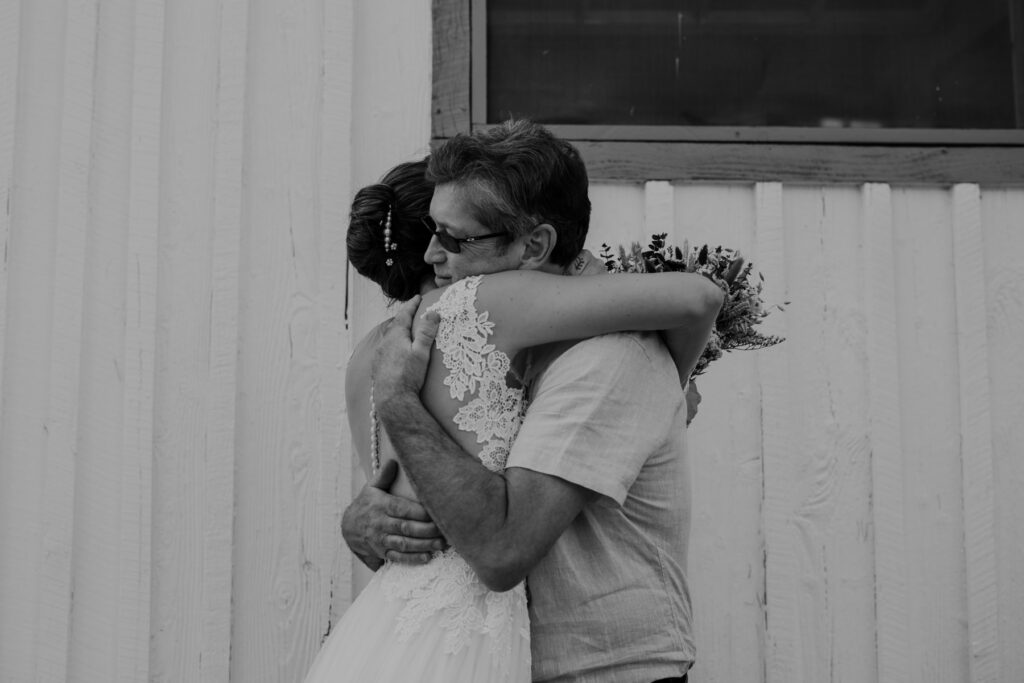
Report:
[[[512,120],[460,133],[430,156],[427,178],[459,185],[488,229],[519,237],[550,224],[558,234],[556,265],[583,251],[590,227],[587,167],[574,146],[540,124]]]

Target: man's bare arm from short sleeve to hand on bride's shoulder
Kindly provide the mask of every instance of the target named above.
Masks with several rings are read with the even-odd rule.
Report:
[[[492,472],[449,437],[419,398],[437,319],[411,336],[417,303],[399,309],[378,349],[378,417],[430,518],[484,585],[509,590],[595,494],[526,469]]]

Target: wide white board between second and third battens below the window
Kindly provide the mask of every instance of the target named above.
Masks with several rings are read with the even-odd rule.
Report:
[[[785,415],[784,458],[769,460],[765,441],[768,637],[788,650],[798,680],[873,680],[858,210],[853,188],[785,188],[787,265],[778,272],[793,304],[766,321],[790,332],[776,351],[792,359],[786,403],[796,409]]]

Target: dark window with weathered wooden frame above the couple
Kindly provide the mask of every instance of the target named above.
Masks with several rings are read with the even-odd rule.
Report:
[[[434,135],[597,179],[1024,183],[1024,0],[435,0]]]

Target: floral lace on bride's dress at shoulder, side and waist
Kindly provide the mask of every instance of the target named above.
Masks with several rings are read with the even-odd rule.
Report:
[[[481,280],[477,275],[452,285],[430,310],[440,314],[435,344],[449,371],[444,385],[453,399],[465,401],[455,424],[476,435],[480,462],[501,471],[522,423],[525,401],[521,388],[508,385],[508,355],[488,342],[495,324],[486,311],[476,310]],[[414,637],[428,616],[442,612],[450,652],[458,651],[470,635],[485,633],[500,655],[509,647],[514,610],[526,608],[522,585],[505,593],[488,591],[452,549],[436,553],[426,565],[387,563],[381,571],[385,594],[407,602],[399,638]]]

